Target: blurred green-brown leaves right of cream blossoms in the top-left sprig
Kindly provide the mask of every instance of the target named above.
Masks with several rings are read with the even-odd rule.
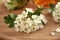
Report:
[[[25,6],[30,0],[11,0],[11,2],[8,2],[8,9],[10,11],[14,9],[19,9]]]

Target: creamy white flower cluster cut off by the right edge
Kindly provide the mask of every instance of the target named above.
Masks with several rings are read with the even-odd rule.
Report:
[[[54,11],[52,13],[53,13],[54,21],[60,22],[60,2],[56,4]]]

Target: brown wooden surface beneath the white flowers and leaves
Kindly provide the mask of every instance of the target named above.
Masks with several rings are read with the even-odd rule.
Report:
[[[35,5],[30,2],[26,7],[36,9]],[[21,9],[15,10],[16,14],[21,13]],[[44,29],[39,29],[36,32],[24,33],[15,32],[14,28],[8,28],[8,25],[4,23],[4,16],[9,12],[3,6],[2,0],[0,0],[0,40],[60,40],[60,33],[56,33],[55,36],[51,36],[50,33],[60,26],[59,23],[55,23],[52,19],[51,14],[47,13],[46,18],[48,20]],[[46,14],[46,12],[44,13]]]

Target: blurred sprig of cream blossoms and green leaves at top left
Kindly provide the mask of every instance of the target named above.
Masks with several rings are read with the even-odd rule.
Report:
[[[7,8],[7,10],[14,10],[19,9],[25,6],[29,0],[3,0],[4,6]]]

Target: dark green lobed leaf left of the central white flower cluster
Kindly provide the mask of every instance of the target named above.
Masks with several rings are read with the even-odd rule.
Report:
[[[14,27],[14,21],[16,19],[16,15],[15,14],[8,14],[8,16],[4,17],[4,22],[9,24],[9,28],[13,28]]]

